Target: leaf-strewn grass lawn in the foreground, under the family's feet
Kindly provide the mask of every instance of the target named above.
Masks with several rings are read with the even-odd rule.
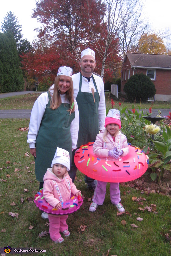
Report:
[[[49,227],[48,221],[41,218],[39,209],[30,201],[38,191],[39,182],[35,179],[34,158],[26,143],[27,131],[19,130],[28,126],[29,119],[0,119],[1,248],[9,245],[12,248],[45,249],[46,253],[27,255],[47,256],[171,255],[170,197],[122,183],[121,203],[126,213],[117,216],[117,210],[110,202],[108,184],[104,204],[92,213],[88,210],[92,193],[86,189],[84,175],[79,171],[75,185],[82,192],[84,204],[68,217],[70,237],[64,238],[61,244],[51,241],[48,233],[38,237],[41,232],[48,232]],[[138,202],[132,197],[142,199]],[[151,204],[156,205],[156,211],[139,209]],[[142,221],[137,220],[139,217]]]

